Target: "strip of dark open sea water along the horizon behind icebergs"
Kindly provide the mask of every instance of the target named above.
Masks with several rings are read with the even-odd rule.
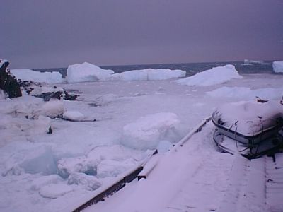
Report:
[[[144,65],[126,65],[126,66],[100,66],[102,69],[111,69],[115,73],[121,73],[123,71],[141,70],[141,69],[180,69],[187,71],[187,76],[192,76],[195,73],[212,69],[216,66],[225,66],[226,64],[233,64],[236,70],[240,74],[254,74],[254,73],[274,73],[272,69],[272,61],[264,61],[260,63],[244,63],[243,61],[231,61],[231,62],[209,62],[209,63],[188,63],[188,64],[144,64]],[[62,76],[67,75],[66,68],[55,69],[34,69],[35,71],[59,71]],[[274,73],[278,74],[278,73]]]

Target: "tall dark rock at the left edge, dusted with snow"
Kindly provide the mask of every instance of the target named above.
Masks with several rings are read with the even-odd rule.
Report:
[[[7,69],[9,62],[0,59],[0,88],[8,94],[9,98],[17,98],[22,96],[21,88],[15,76]]]

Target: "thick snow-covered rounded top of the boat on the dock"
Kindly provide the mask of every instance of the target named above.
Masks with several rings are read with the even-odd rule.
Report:
[[[227,129],[244,136],[254,136],[262,130],[270,129],[280,118],[283,119],[283,105],[279,101],[226,103],[212,115],[214,122],[219,123],[221,120]]]

